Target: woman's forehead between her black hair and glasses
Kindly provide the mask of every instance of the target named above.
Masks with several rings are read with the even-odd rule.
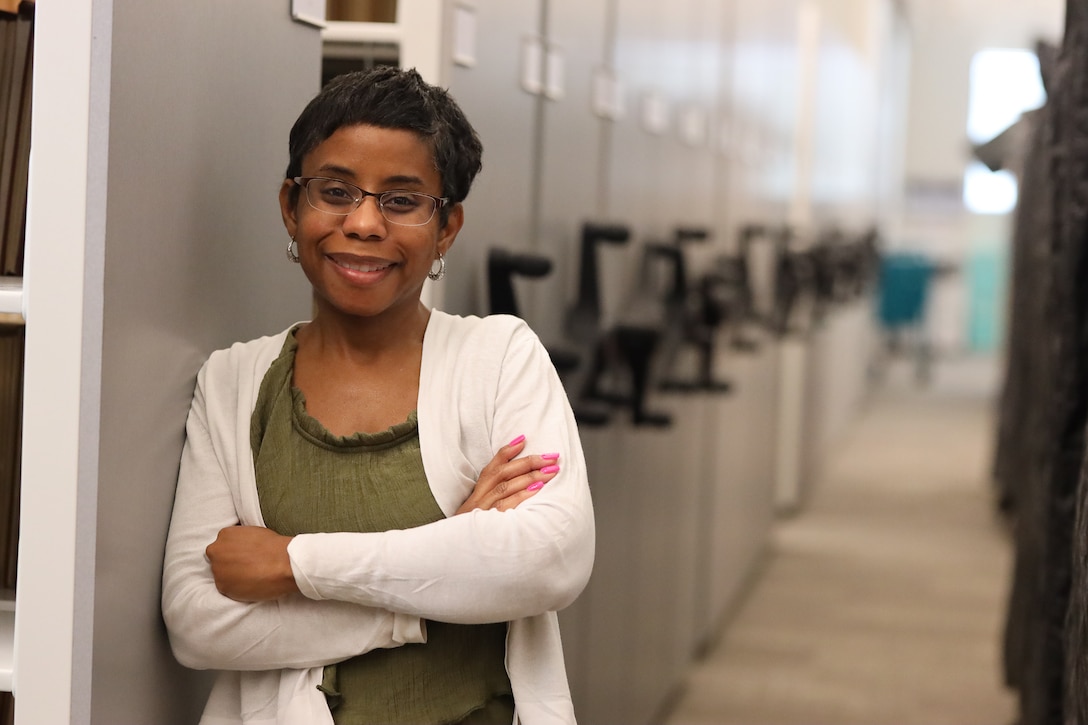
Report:
[[[415,176],[424,184],[438,184],[431,145],[405,128],[369,124],[337,128],[302,159],[307,174],[329,171],[349,181],[387,176]]]

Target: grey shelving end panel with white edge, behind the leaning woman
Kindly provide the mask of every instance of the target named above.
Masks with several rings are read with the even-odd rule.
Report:
[[[0,292],[26,319],[21,725],[199,720],[210,678],[159,606],[185,417],[211,351],[310,308],[275,195],[320,53],[264,0],[36,9],[22,299]]]

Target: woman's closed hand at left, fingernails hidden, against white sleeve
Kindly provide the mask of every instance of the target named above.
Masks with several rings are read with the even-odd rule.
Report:
[[[298,591],[287,556],[290,537],[261,526],[228,526],[205,550],[215,588],[239,602],[262,602]]]

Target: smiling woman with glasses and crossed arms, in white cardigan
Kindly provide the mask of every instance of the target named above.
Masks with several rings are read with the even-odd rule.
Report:
[[[556,612],[593,561],[578,431],[512,317],[420,302],[480,169],[413,71],[334,79],[280,191],[305,324],[197,378],[163,570],[202,723],[571,723]],[[532,452],[532,453],[531,453]]]

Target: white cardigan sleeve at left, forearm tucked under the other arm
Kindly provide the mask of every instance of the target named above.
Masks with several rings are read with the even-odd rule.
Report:
[[[163,564],[162,613],[177,661],[198,669],[310,667],[424,641],[417,618],[388,610],[299,594],[243,603],[219,592],[205,549],[239,514],[232,457],[217,454],[209,433],[206,370],[186,422]]]

